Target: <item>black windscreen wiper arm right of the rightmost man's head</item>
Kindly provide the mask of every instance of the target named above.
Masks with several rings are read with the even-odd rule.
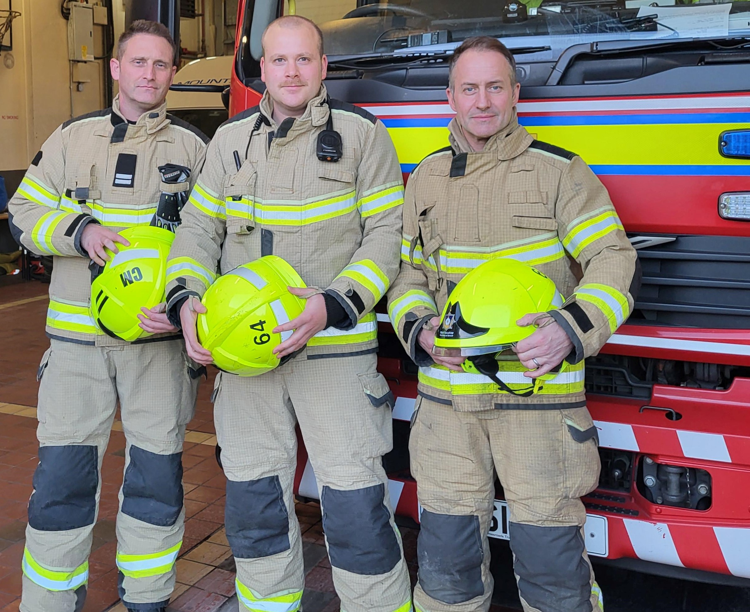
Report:
[[[651,17],[651,16],[648,16]],[[746,46],[750,45],[748,37],[715,37],[715,38],[652,38],[649,40],[601,40],[595,43],[584,43],[568,46],[560,53],[557,62],[547,78],[545,86],[559,85],[565,71],[573,65],[578,55],[599,55],[601,57],[613,57],[627,55],[634,51],[648,51],[649,49],[666,50],[675,47],[706,47],[710,46],[718,51],[745,52]]]

